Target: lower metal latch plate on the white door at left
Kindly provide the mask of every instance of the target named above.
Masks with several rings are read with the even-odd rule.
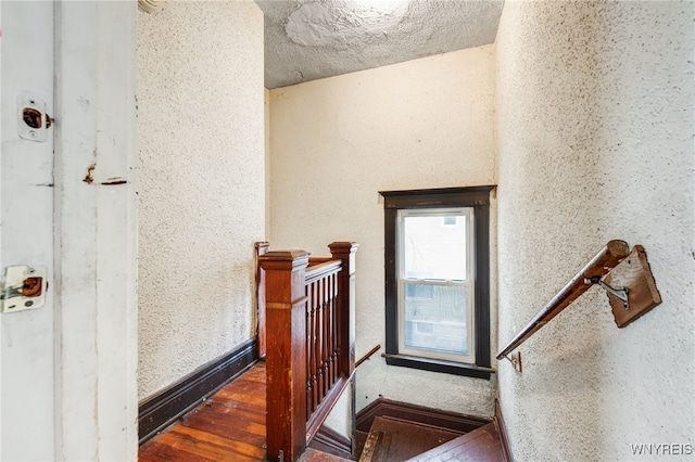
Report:
[[[47,267],[7,267],[0,280],[0,311],[16,312],[40,308],[46,304],[47,292]]]

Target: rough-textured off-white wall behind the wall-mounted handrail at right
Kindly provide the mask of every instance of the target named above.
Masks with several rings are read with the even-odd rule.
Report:
[[[694,8],[505,5],[501,345],[611,239],[645,246],[664,299],[618,330],[592,288],[521,347],[522,374],[500,364],[517,460],[635,460],[631,445],[695,444]]]

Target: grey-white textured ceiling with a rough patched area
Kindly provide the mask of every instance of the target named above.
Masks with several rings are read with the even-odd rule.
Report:
[[[495,41],[503,0],[256,0],[268,89]]]

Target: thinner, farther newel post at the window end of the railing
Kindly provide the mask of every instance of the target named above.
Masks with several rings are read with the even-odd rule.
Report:
[[[359,245],[355,242],[333,242],[328,247],[336,260],[343,262],[338,286],[340,325],[340,371],[351,376],[355,370],[355,254]]]

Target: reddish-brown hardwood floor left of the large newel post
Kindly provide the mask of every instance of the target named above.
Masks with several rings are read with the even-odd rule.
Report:
[[[265,459],[265,363],[260,362],[140,448],[140,462]]]

